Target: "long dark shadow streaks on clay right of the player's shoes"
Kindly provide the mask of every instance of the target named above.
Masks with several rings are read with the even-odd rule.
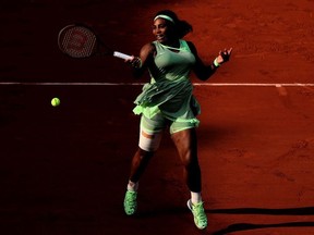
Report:
[[[314,215],[314,207],[287,208],[287,209],[263,209],[263,208],[239,208],[239,209],[217,209],[206,210],[207,213],[227,213],[227,214],[269,214],[269,215]],[[314,226],[314,221],[307,222],[287,222],[276,224],[253,224],[234,223],[226,228],[215,232],[213,235],[226,235],[239,231],[251,231],[271,227],[305,227]]]

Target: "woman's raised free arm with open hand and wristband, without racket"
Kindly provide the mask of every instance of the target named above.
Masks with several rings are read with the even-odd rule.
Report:
[[[193,71],[195,75],[202,81],[208,79],[216,72],[216,70],[220,64],[227,62],[232,51],[232,48],[230,48],[230,50],[225,49],[224,52],[220,51],[218,57],[213,61],[213,63],[210,63],[209,65],[205,65],[203,61],[200,59],[195,46],[191,41],[188,41],[188,44],[190,50],[192,51],[196,60]]]

